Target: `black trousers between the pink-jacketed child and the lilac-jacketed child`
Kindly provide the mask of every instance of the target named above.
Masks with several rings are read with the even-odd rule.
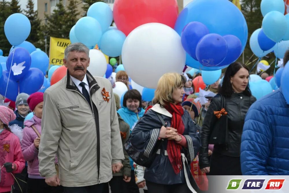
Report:
[[[27,191],[27,179],[28,179],[28,173],[27,173],[27,166],[25,166],[25,168],[22,170],[22,172],[20,174],[15,174],[14,175],[16,180],[14,181],[14,185],[13,185],[13,193],[26,193]],[[18,185],[18,183],[20,185]],[[22,190],[22,191],[21,191]]]

